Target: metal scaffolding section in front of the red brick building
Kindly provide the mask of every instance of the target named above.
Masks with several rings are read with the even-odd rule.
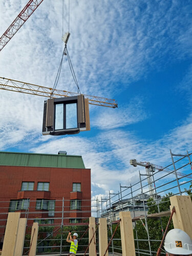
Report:
[[[16,212],[20,213],[20,218],[27,218],[23,255],[28,255],[29,253],[31,229],[34,222],[38,222],[39,227],[37,253],[45,254],[47,252],[56,253],[57,255],[68,255],[70,244],[66,242],[66,239],[69,231],[78,232],[79,237],[81,237],[89,226],[89,218],[91,215],[97,216],[99,212],[98,199],[80,200],[81,206],[78,207],[77,205],[75,209],[72,209],[70,200],[63,198],[62,200],[54,201],[55,209],[51,211],[47,207],[47,203],[50,202],[50,200],[44,200],[44,206],[41,205],[42,209],[39,209],[37,201],[29,200],[28,203],[20,204],[22,209],[16,210]],[[90,210],[83,210],[83,207],[90,207]],[[4,237],[10,211],[14,211],[10,206],[10,201],[0,202],[0,241],[1,238]],[[88,244],[89,236],[84,234],[84,237],[78,245],[78,253],[84,253]]]

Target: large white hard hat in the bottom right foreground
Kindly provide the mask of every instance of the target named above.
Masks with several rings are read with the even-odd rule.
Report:
[[[183,230],[174,228],[168,231],[165,237],[164,248],[172,254],[191,254],[192,240]]]

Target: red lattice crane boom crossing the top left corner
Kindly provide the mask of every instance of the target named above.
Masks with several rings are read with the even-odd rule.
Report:
[[[44,0],[30,0],[0,38],[0,51]]]

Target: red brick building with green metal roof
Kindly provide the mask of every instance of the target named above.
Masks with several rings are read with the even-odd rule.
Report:
[[[91,216],[91,169],[81,156],[0,152],[0,240],[7,214],[28,223],[80,223]]]

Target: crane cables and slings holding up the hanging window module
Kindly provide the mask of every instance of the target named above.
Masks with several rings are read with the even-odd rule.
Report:
[[[68,3],[69,3],[69,13],[68,13],[69,21],[68,21],[68,25],[69,25],[69,28],[70,28],[70,0],[69,0]],[[64,24],[64,0],[62,1],[62,34],[63,34],[63,27],[64,27],[63,24]],[[71,58],[69,56],[69,52],[68,52],[68,49],[67,49],[67,44],[65,44],[65,48],[64,48],[63,53],[62,53],[59,69],[58,69],[58,72],[57,72],[57,75],[56,75],[56,78],[55,78],[55,82],[54,82],[54,86],[53,86],[53,91],[52,91],[52,93],[50,95],[50,98],[53,95],[53,93],[54,93],[54,91],[56,89],[58,80],[59,80],[59,76],[60,76],[60,72],[61,72],[61,67],[62,67],[62,60],[63,60],[63,56],[64,55],[67,55],[68,62],[69,62],[69,67],[70,67],[70,70],[71,70],[71,74],[73,76],[73,80],[75,81],[75,84],[77,86],[78,93],[81,94],[80,88],[79,88],[79,84],[77,82],[77,78],[76,78],[76,75],[75,75],[75,72],[74,72],[74,69],[73,69],[73,65],[72,65],[72,62],[71,62]]]

